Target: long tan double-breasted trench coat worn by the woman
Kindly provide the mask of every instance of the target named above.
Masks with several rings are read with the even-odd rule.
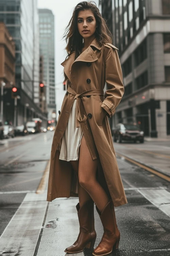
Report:
[[[68,83],[52,141],[47,201],[79,196],[77,174],[69,161],[59,159],[60,142],[77,98],[76,126],[81,125],[92,159],[98,159],[96,178],[115,207],[127,203],[108,122],[124,93],[117,49],[109,43],[99,46],[94,39],[77,59],[73,52],[61,63]]]

